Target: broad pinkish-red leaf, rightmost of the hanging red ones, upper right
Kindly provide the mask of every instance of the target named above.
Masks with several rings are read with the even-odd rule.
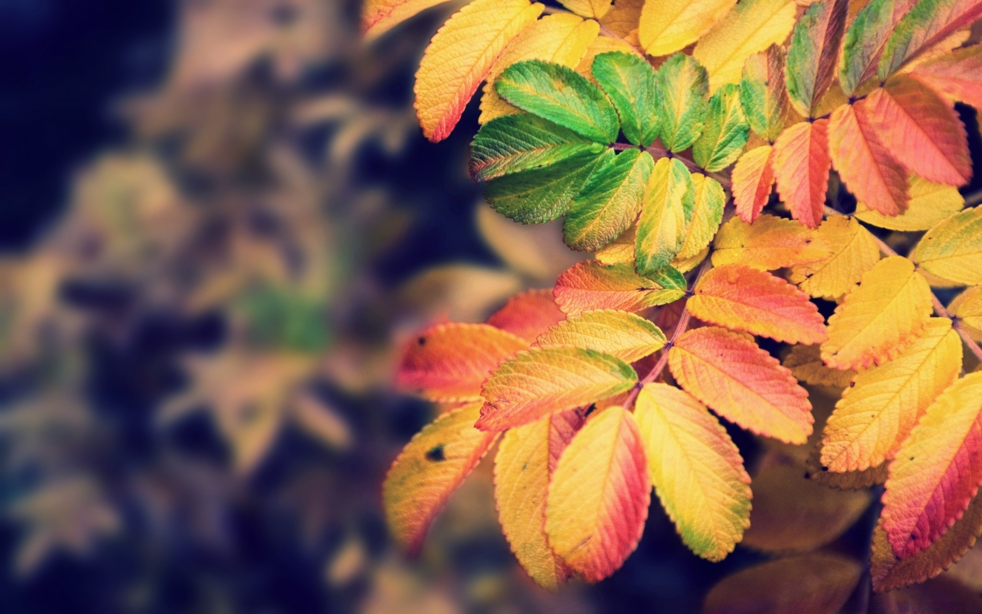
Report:
[[[971,179],[968,140],[951,102],[903,76],[874,90],[864,102],[877,139],[908,171],[950,186]]]

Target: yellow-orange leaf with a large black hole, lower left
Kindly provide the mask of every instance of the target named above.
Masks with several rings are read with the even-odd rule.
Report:
[[[474,428],[480,407],[468,405],[424,426],[385,478],[382,503],[389,528],[410,553],[419,551],[451,493],[498,438],[498,433]]]

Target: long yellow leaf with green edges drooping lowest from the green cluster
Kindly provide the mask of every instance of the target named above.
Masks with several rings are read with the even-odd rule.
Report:
[[[634,265],[648,276],[679,253],[692,219],[692,176],[677,158],[661,158],[651,171],[637,222]]]

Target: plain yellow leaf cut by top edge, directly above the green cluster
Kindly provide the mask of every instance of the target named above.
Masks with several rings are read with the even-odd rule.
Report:
[[[648,55],[669,55],[698,40],[736,0],[645,0],[638,29]]]

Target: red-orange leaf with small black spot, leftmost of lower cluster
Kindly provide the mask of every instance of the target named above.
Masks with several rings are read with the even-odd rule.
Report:
[[[429,401],[479,401],[494,367],[528,344],[487,324],[438,324],[409,342],[396,387]]]

